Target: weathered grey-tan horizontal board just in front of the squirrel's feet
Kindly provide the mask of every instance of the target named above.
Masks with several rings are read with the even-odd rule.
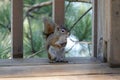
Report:
[[[109,68],[108,65],[104,63],[2,66],[0,68],[0,78],[84,76],[84,75],[108,76],[110,74],[120,75],[120,68],[114,69]]]

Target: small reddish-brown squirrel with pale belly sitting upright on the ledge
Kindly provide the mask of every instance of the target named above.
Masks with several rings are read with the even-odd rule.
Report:
[[[43,22],[43,34],[46,39],[46,50],[50,62],[68,62],[65,59],[65,46],[69,36],[68,29],[63,25],[57,25],[48,18],[44,18]]]

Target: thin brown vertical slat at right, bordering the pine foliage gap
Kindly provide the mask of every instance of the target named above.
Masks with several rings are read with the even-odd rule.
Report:
[[[97,0],[92,0],[93,3],[93,56],[97,57]]]

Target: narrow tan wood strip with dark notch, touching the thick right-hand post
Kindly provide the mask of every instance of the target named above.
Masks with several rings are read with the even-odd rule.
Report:
[[[104,58],[106,61],[108,61],[108,41],[109,41],[109,27],[110,27],[110,0],[105,0],[104,1],[104,15],[103,16],[105,19],[105,24],[104,24],[104,32],[103,32],[103,39],[104,39],[104,42],[103,42],[103,53],[104,53]]]

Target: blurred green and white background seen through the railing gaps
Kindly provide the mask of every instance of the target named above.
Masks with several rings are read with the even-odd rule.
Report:
[[[51,0],[24,0],[24,58],[47,58],[43,37],[43,17],[52,19],[52,4],[30,9]],[[65,0],[65,25],[70,27],[84,14],[91,3]],[[92,56],[92,10],[71,30],[67,39],[66,57]],[[11,58],[11,0],[0,0],[0,59]]]

